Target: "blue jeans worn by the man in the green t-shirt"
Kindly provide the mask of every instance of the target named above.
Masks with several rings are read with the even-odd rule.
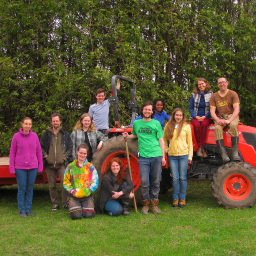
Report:
[[[151,181],[150,198],[158,199],[160,190],[160,179],[162,172],[162,157],[143,157],[138,158],[138,168],[140,175],[141,200],[149,200],[149,178]]]

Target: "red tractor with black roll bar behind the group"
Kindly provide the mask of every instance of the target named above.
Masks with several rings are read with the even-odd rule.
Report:
[[[112,157],[119,157],[128,168],[125,143],[121,133],[124,131],[121,126],[117,104],[118,97],[116,94],[116,79],[120,78],[127,81],[131,89],[131,101],[128,106],[132,108],[131,121],[134,120],[136,114],[136,101],[133,82],[120,75],[113,75],[111,80],[112,96],[110,103],[113,104],[115,117],[115,128],[109,128],[108,134],[113,136],[103,142],[100,151],[93,155],[92,163],[96,167],[98,174],[106,167],[107,162]],[[256,128],[238,125],[239,131],[239,162],[227,162],[223,164],[221,156],[218,152],[216,140],[214,138],[214,124],[208,126],[206,141],[204,148],[207,151],[207,158],[199,158],[195,151],[197,144],[195,141],[193,126],[192,130],[193,151],[194,156],[192,164],[188,166],[187,178],[198,178],[211,180],[212,194],[219,204],[227,208],[245,208],[252,207],[256,201]],[[132,130],[131,127],[126,128],[127,132]],[[136,196],[140,199],[140,177],[138,171],[138,142],[137,139],[127,139],[129,148],[129,159],[132,172],[132,180]],[[231,138],[227,133],[227,128],[224,129],[224,143],[228,155],[231,155]],[[162,166],[162,179],[160,183],[160,192],[166,191],[171,187],[170,171],[168,169],[167,156],[165,154],[166,164]],[[189,191],[188,191],[189,192]],[[137,200],[138,201],[138,200]]]

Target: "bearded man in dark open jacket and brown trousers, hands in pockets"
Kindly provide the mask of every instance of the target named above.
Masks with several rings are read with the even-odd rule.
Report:
[[[51,210],[59,209],[56,174],[60,178],[61,198],[64,209],[68,209],[68,192],[63,187],[63,178],[65,167],[68,164],[68,158],[72,153],[73,144],[69,133],[60,126],[61,115],[59,113],[53,113],[50,116],[50,123],[52,126],[48,127],[42,134],[40,144],[42,148],[43,166],[45,167],[49,183],[50,199],[53,203]]]

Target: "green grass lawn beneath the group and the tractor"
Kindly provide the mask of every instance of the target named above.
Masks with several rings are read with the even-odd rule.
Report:
[[[256,206],[225,210],[207,180],[188,180],[184,208],[171,207],[171,191],[159,195],[161,214],[138,207],[130,216],[71,220],[62,206],[51,211],[48,184],[34,186],[36,216],[25,218],[17,186],[1,186],[0,255],[256,255]]]

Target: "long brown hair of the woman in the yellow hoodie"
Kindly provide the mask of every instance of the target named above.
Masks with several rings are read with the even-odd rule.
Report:
[[[176,107],[171,116],[170,116],[170,119],[167,121],[165,127],[165,131],[164,131],[164,136],[167,140],[170,140],[172,137],[173,137],[173,132],[174,132],[174,129],[175,129],[175,118],[174,118],[174,115],[177,111],[180,111],[182,113],[182,120],[179,122],[179,125],[178,125],[178,128],[177,128],[177,137],[180,135],[180,132],[181,132],[181,129],[183,127],[184,124],[187,124],[186,120],[185,120],[185,114],[184,114],[184,111],[182,108],[180,107]]]

